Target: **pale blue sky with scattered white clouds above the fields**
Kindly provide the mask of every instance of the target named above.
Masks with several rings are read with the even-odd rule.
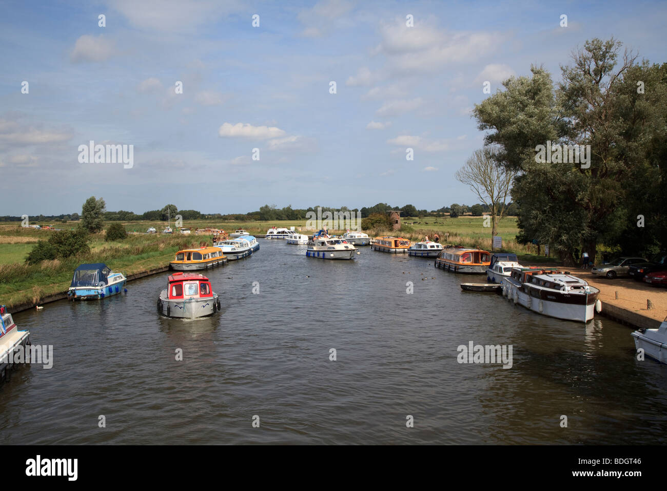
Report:
[[[139,213],[168,202],[220,213],[266,203],[474,204],[454,172],[482,146],[470,110],[488,97],[484,81],[496,92],[531,63],[558,81],[559,65],[592,37],[614,35],[640,57],[666,61],[665,2],[4,1],[0,9],[0,215],[80,212],[93,195],[108,210]],[[79,163],[89,140],[133,145],[133,167]]]

